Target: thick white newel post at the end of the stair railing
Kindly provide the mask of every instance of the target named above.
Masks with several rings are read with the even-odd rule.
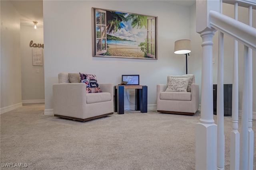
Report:
[[[201,117],[196,124],[196,170],[217,169],[217,125],[213,119],[212,38],[210,10],[220,11],[219,0],[196,0],[196,32],[202,37]]]

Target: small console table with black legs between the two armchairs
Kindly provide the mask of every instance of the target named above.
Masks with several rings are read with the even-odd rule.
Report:
[[[115,86],[115,112],[124,114],[124,89],[135,89],[135,109],[142,113],[148,112],[148,86],[146,85]]]

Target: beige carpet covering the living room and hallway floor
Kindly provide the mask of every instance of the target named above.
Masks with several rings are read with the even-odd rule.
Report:
[[[0,168],[26,163],[21,169],[193,170],[199,118],[200,111],[194,116],[125,111],[80,122],[44,115],[44,104],[25,104],[0,115]],[[224,121],[229,169],[231,117]],[[255,127],[253,120],[254,132]],[[254,161],[255,150],[254,144]]]

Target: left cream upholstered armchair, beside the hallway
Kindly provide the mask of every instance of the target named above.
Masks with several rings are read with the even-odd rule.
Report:
[[[71,77],[72,76],[72,77]],[[59,73],[53,84],[54,116],[87,121],[114,113],[113,84],[98,84],[102,92],[87,93],[79,73]]]

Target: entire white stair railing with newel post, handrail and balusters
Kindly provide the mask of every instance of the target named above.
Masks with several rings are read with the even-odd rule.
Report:
[[[224,170],[224,101],[223,47],[224,34],[234,39],[232,89],[232,132],[230,133],[230,169],[252,170],[254,132],[252,130],[252,50],[256,51],[256,29],[252,27],[252,8],[255,1],[223,0],[234,4],[234,19],[222,13],[222,1],[196,1],[196,31],[202,43],[201,118],[196,124],[196,169]],[[238,6],[249,10],[249,24],[237,20]],[[219,31],[217,121],[212,117],[212,37]],[[238,42],[244,44],[244,86],[242,96],[241,143],[238,132]],[[217,140],[216,140],[217,138]],[[214,142],[217,144],[214,145]],[[241,144],[241,145],[240,145]],[[210,148],[208,148],[210,147]]]

